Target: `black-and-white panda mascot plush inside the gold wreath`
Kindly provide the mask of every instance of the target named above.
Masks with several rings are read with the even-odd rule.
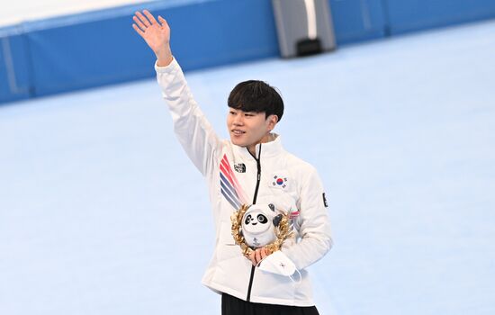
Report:
[[[275,213],[275,206],[253,204],[242,217],[242,236],[251,248],[264,247],[276,240],[275,228],[282,220],[282,214]]]

